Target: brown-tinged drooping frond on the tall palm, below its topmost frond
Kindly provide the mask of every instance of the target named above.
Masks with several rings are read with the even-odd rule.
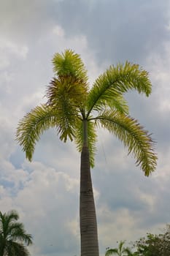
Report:
[[[66,142],[67,137],[72,140],[74,126],[87,96],[85,87],[72,77],[53,78],[46,96],[47,105],[55,110],[58,118],[61,140]]]

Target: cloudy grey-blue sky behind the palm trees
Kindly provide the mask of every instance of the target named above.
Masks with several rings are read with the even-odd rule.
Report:
[[[53,54],[66,48],[81,55],[90,83],[125,60],[147,69],[152,81],[150,97],[125,96],[131,116],[157,142],[152,176],[98,131],[92,176],[102,256],[116,241],[159,233],[170,222],[170,1],[0,0],[0,211],[18,211],[36,256],[80,255],[80,154],[53,129],[31,163],[15,141],[20,118],[46,100]]]

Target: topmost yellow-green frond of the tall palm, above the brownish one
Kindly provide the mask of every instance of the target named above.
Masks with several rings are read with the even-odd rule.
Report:
[[[73,50],[65,50],[63,53],[55,53],[53,57],[53,71],[58,77],[72,76],[83,83],[87,83],[88,75],[80,55]]]

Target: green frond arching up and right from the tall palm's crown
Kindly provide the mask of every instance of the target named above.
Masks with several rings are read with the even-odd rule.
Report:
[[[148,72],[138,64],[126,61],[124,65],[111,66],[93,83],[87,99],[88,113],[91,110],[98,110],[101,105],[105,105],[111,99],[120,97],[131,89],[149,96],[151,88]]]

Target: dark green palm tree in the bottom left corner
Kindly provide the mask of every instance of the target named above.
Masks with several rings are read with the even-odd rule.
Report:
[[[0,211],[0,256],[28,256],[26,246],[32,244],[32,236],[26,233],[16,211],[2,214]]]

